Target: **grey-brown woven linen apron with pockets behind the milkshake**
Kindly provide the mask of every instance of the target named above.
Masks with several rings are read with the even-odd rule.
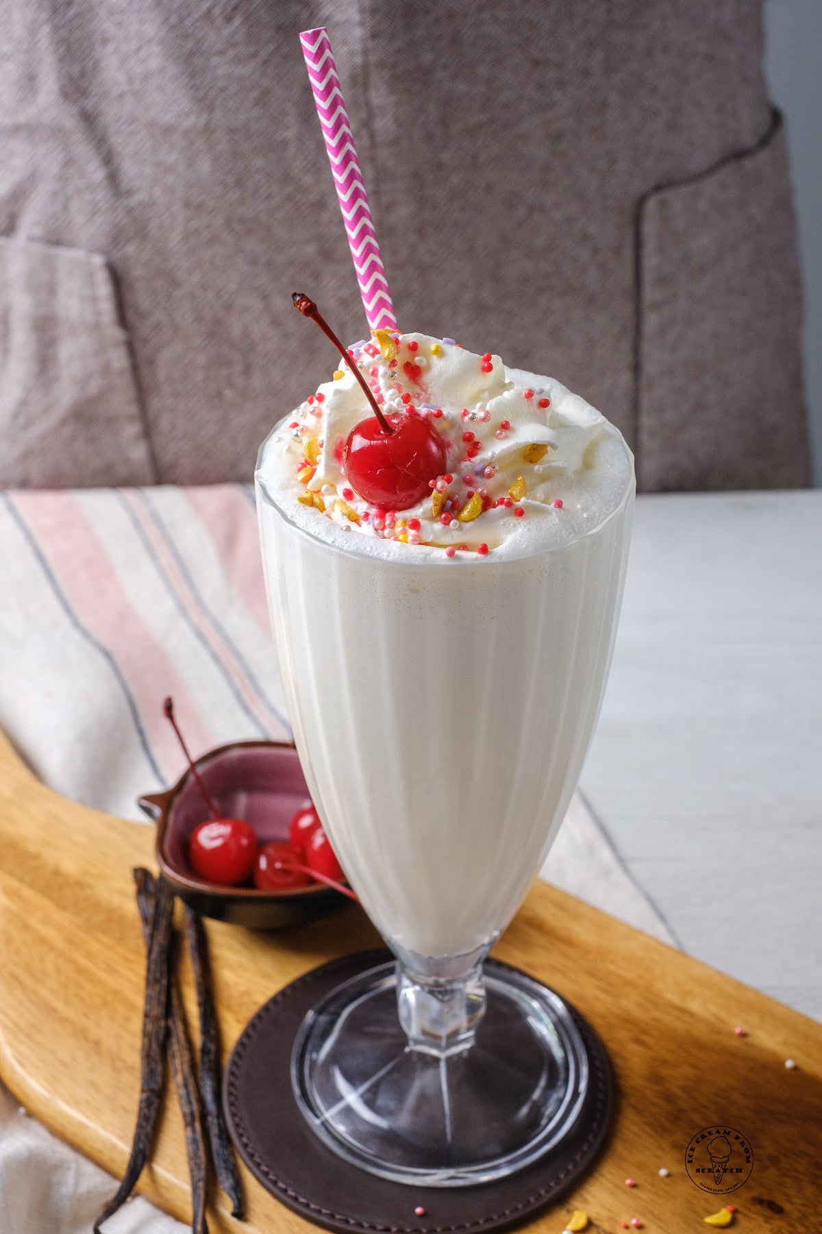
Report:
[[[248,479],[362,310],[327,25],[401,326],[550,371],[643,489],[807,482],[760,0],[2,0],[0,485]]]

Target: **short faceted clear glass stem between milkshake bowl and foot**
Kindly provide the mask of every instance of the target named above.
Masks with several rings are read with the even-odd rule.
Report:
[[[447,1058],[473,1045],[486,1014],[482,961],[461,976],[420,976],[397,964],[397,1009],[412,1050]]]

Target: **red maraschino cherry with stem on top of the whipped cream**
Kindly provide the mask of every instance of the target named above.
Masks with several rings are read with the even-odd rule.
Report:
[[[373,416],[355,424],[343,449],[343,470],[349,482],[361,497],[382,510],[415,506],[429,495],[430,481],[446,470],[447,450],[440,433],[428,418],[412,412],[385,416],[357,364],[313,300],[297,291],[291,299],[334,343],[373,408]]]

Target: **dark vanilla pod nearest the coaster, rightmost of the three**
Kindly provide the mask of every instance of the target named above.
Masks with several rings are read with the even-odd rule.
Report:
[[[208,943],[196,912],[185,906],[189,953],[200,1007],[200,1092],[211,1141],[211,1156],[221,1187],[232,1202],[232,1215],[243,1215],[243,1195],[228,1139],[221,1099],[219,1033],[208,979]]]

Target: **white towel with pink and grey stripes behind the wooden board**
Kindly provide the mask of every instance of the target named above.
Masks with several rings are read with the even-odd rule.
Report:
[[[248,485],[0,495],[0,724],[36,774],[99,810],[192,752],[288,738]],[[670,942],[577,795],[543,874]]]

